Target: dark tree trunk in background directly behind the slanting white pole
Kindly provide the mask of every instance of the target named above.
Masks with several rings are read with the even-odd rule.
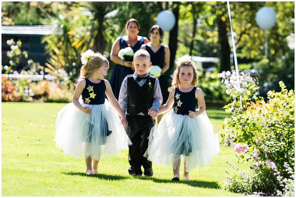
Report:
[[[220,72],[230,70],[230,47],[228,43],[226,20],[224,17],[218,18],[218,35],[220,43]]]

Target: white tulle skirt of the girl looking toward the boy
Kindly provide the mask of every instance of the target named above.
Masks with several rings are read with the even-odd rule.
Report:
[[[101,105],[82,106],[89,106],[91,113],[84,113],[69,103],[57,114],[54,141],[64,154],[99,160],[101,155],[117,155],[120,150],[128,149],[131,141],[107,99]]]

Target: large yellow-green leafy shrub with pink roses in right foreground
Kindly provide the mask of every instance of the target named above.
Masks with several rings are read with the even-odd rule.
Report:
[[[291,170],[294,170],[295,154],[295,95],[293,90],[285,89],[283,82],[279,85],[281,92],[268,92],[268,103],[262,99],[257,103],[250,102],[242,114],[232,114],[223,123],[224,128],[232,130],[237,137],[234,150],[241,153],[239,160],[250,164],[256,184],[253,191],[276,193],[281,189],[280,185],[284,185],[282,183],[289,180],[285,185],[290,185],[294,182]],[[226,183],[237,177],[232,175]]]

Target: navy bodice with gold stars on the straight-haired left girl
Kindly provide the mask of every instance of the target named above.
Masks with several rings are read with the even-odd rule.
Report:
[[[85,78],[85,87],[82,91],[83,103],[90,105],[100,105],[105,103],[106,85],[104,80],[99,83],[93,83]]]

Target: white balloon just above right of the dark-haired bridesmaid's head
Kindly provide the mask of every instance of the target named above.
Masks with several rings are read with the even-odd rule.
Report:
[[[159,25],[164,31],[170,31],[173,29],[176,23],[176,18],[173,12],[169,10],[163,10],[157,15],[157,25]]]

